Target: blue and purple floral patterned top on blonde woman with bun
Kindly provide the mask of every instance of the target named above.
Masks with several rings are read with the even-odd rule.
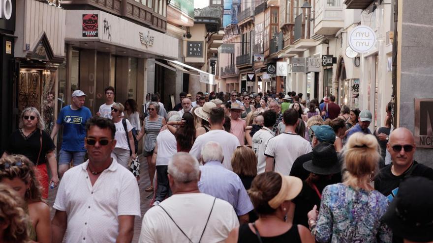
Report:
[[[355,190],[342,183],[322,192],[315,238],[332,243],[391,243],[391,229],[382,222],[388,201],[376,190]]]

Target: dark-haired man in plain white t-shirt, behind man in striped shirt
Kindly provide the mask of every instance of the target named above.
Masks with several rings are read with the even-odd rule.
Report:
[[[197,159],[201,157],[201,149],[209,141],[217,142],[221,145],[224,154],[222,164],[225,168],[232,170],[231,159],[236,147],[240,145],[238,138],[224,130],[223,124],[225,122],[224,110],[219,107],[214,107],[209,113],[209,124],[211,130],[203,135],[199,135],[192,145],[189,153]]]

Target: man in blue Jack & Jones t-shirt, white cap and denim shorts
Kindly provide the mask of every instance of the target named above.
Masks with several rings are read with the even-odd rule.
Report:
[[[84,106],[86,94],[81,90],[75,90],[72,93],[72,103],[70,106],[63,107],[57,118],[51,132],[51,139],[54,137],[63,125],[62,148],[59,158],[59,175],[69,169],[71,160],[74,166],[84,162],[86,148],[84,147],[84,138],[86,137],[86,122],[92,118],[92,112]]]

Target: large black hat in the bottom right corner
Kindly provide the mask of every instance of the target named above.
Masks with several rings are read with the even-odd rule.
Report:
[[[433,181],[415,176],[402,181],[383,220],[394,235],[413,242],[433,241]]]

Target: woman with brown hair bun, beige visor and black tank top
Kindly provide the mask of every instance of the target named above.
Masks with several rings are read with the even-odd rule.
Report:
[[[313,243],[305,226],[286,221],[292,207],[290,200],[301,189],[302,181],[297,177],[283,176],[276,172],[257,175],[248,193],[259,219],[234,228],[226,243]]]

